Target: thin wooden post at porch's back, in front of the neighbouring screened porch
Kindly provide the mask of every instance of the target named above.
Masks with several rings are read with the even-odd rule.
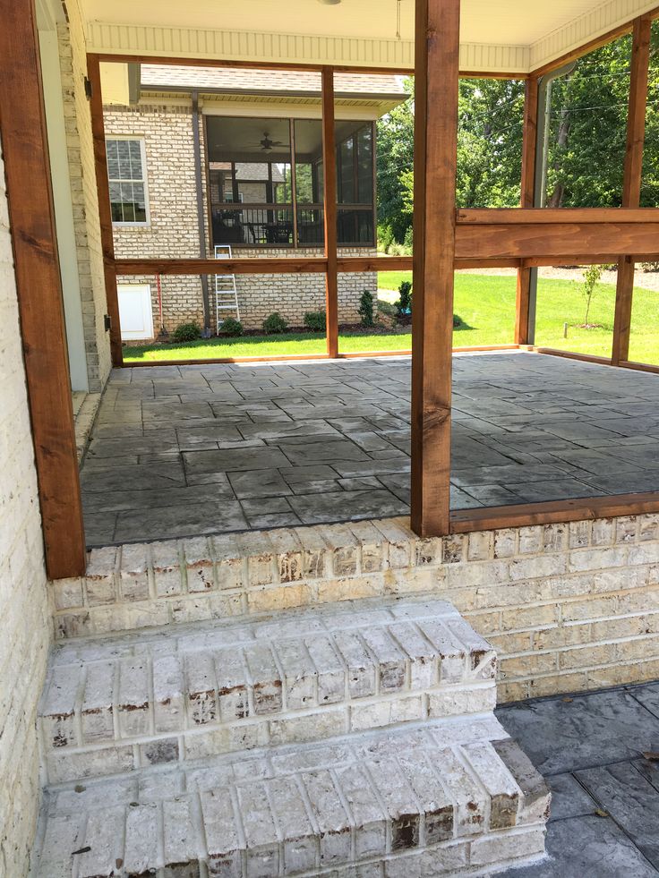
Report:
[[[334,136],[334,70],[322,68],[322,181],[325,217],[327,353],[338,355],[337,149]]]

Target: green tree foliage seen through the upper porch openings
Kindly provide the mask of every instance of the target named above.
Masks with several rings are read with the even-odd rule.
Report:
[[[631,38],[596,49],[556,77],[548,101],[545,204],[618,207],[627,136]],[[378,222],[402,243],[412,224],[414,82],[410,98],[378,124]],[[652,29],[641,205],[659,206],[659,22]],[[543,113],[545,107],[540,107]],[[462,208],[519,203],[524,83],[461,80],[457,203]]]

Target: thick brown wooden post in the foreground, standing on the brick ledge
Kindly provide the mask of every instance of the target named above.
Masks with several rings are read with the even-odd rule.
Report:
[[[411,522],[449,533],[460,0],[416,0]]]

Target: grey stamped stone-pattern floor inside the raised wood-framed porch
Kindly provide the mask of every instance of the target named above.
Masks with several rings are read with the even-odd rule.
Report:
[[[405,515],[408,357],[113,372],[81,470],[90,545]],[[452,506],[659,490],[659,377],[454,358]]]

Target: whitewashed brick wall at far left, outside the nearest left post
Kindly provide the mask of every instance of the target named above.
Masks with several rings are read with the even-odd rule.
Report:
[[[39,808],[35,721],[51,613],[1,158],[0,326],[0,875],[21,878]]]

